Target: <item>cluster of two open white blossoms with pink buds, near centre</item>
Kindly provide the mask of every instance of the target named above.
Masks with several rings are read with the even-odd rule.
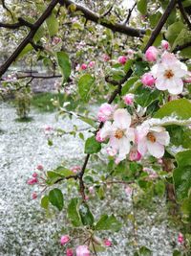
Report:
[[[163,127],[152,127],[148,122],[135,128],[132,116],[127,109],[109,104],[100,106],[97,119],[103,122],[103,128],[96,133],[96,140],[103,142],[109,139],[107,152],[116,156],[116,163],[124,160],[127,154],[130,160],[139,160],[147,152],[160,158],[164,146],[170,143],[168,131]]]

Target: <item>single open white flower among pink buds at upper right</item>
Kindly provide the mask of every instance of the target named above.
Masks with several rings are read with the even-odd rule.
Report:
[[[187,67],[173,54],[165,52],[152,67],[151,73],[156,78],[156,87],[159,90],[168,90],[169,93],[178,95],[183,90],[182,78],[187,74]]]

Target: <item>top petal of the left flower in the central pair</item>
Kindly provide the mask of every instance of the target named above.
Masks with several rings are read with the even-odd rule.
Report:
[[[129,128],[131,115],[124,108],[118,108],[114,113],[114,126],[121,129]]]

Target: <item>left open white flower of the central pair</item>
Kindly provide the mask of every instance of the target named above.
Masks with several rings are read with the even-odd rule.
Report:
[[[126,158],[130,151],[130,141],[135,140],[134,128],[130,128],[131,116],[126,109],[119,108],[114,112],[114,122],[106,122],[100,129],[102,139],[109,138],[109,149],[117,155],[117,163]]]

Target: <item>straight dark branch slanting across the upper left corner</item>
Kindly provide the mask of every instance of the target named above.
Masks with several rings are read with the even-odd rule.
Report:
[[[39,27],[42,23],[47,19],[47,17],[52,13],[54,7],[57,5],[59,0],[53,0],[48,8],[43,12],[43,14],[39,17],[39,19],[32,25],[30,33],[23,39],[21,44],[16,48],[16,50],[12,53],[11,57],[7,59],[7,61],[0,67],[0,77],[7,71],[7,69],[11,66],[11,63],[20,55],[23,49],[32,41],[33,36],[36,34]]]

